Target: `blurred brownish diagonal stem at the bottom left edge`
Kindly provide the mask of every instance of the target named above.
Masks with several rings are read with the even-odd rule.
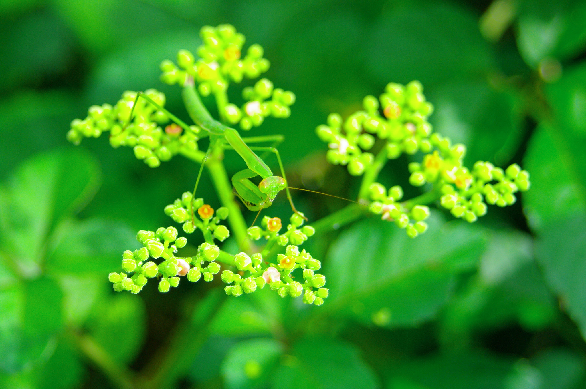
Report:
[[[131,371],[125,364],[112,359],[110,354],[89,335],[81,335],[74,329],[69,334],[74,339],[81,352],[100,370],[105,376],[120,389],[134,389]]]

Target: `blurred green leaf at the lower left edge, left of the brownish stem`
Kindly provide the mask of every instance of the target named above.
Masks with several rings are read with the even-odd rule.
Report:
[[[15,373],[49,357],[62,325],[62,292],[57,284],[38,278],[5,287],[0,290],[0,306],[0,369]]]

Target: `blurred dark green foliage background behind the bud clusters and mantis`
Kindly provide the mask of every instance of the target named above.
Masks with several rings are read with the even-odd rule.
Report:
[[[495,15],[488,1],[0,2],[0,387],[586,387],[586,3],[490,9],[510,5],[490,39],[479,25],[503,18],[481,23]],[[193,187],[197,165],[151,169],[105,136],[74,147],[69,123],[147,88],[186,119],[158,64],[195,52],[199,28],[220,23],[261,44],[266,77],[297,95],[291,118],[249,132],[285,135],[294,185],[355,197],[359,181],[328,166],[315,127],[417,79],[434,129],[468,146],[468,167],[519,163],[531,190],[474,225],[436,211],[415,240],[376,218],[310,239],[331,289],[322,307],[265,290],[222,300],[219,283],[115,294],[107,273],[138,229],[172,224],[162,208]],[[230,88],[236,104],[240,90]],[[417,195],[407,163],[387,164],[380,181]],[[243,163],[228,155],[226,166]],[[200,188],[219,204],[206,175]],[[295,201],[314,221],[345,205]],[[288,205],[268,213],[287,218]]]

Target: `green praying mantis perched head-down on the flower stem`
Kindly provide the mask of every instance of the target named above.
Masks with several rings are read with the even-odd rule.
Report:
[[[137,93],[137,97],[135,98],[134,105],[130,113],[129,123],[132,120],[134,106],[136,106],[140,97],[154,105],[156,109],[159,109],[159,111],[164,112],[169,118],[172,119],[173,122],[183,128],[183,130],[187,132],[192,131],[192,129],[190,129],[185,122],[181,121],[162,106],[156,104],[156,102],[144,94],[144,92]],[[194,197],[195,191],[197,190],[197,185],[199,184],[200,176],[203,171],[203,166],[205,165],[207,157],[209,157],[210,150],[212,150],[214,147],[222,146],[225,149],[232,149],[236,151],[248,167],[234,174],[231,180],[234,194],[241,199],[246,208],[250,209],[251,211],[260,212],[261,209],[267,208],[272,204],[272,201],[274,201],[275,197],[277,197],[278,192],[285,190],[287,193],[287,199],[289,200],[289,204],[291,204],[291,209],[293,212],[307,220],[307,218],[301,212],[297,211],[295,205],[293,204],[291,193],[289,192],[289,188],[287,186],[287,177],[281,162],[281,156],[275,147],[250,147],[240,136],[237,130],[223,125],[222,123],[213,119],[209,111],[207,111],[203,105],[199,94],[197,94],[193,78],[188,78],[183,85],[182,97],[189,116],[200,128],[208,132],[210,136],[210,144],[207,149],[206,156],[202,161],[199,174],[197,175],[196,185],[193,191]],[[263,142],[267,140],[277,140],[277,142],[279,142],[279,140],[282,140],[282,137],[257,137],[256,139],[250,139],[252,142]],[[227,145],[225,143],[227,143]],[[273,175],[271,169],[259,156],[257,156],[257,154],[253,152],[253,149],[256,151],[274,153],[275,156],[277,156],[277,161],[279,163],[282,177]],[[252,181],[250,181],[250,178],[257,176],[260,176],[262,180],[258,185],[255,185]]]

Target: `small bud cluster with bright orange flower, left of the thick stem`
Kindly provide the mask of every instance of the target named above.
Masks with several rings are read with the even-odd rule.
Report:
[[[163,211],[165,215],[171,216],[173,221],[183,223],[183,231],[186,233],[192,233],[199,228],[206,238],[211,239],[213,234],[213,237],[220,242],[224,242],[230,236],[230,230],[219,224],[220,220],[226,220],[228,217],[228,208],[220,206],[214,216],[214,209],[208,204],[203,204],[203,198],[194,199],[191,192],[184,192],[181,198],[165,206]],[[198,215],[199,218],[197,218]]]

